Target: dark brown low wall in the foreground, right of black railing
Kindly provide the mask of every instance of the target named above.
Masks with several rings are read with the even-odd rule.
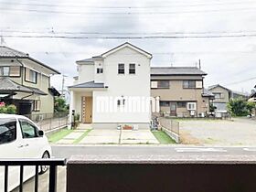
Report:
[[[141,157],[71,158],[67,167],[67,192],[255,191],[255,161],[140,161]]]

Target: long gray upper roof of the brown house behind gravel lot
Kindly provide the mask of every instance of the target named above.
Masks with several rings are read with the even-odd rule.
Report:
[[[207,75],[207,73],[196,67],[153,67],[151,75]]]

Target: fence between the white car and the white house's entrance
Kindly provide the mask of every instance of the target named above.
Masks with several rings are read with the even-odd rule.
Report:
[[[28,114],[25,116],[36,123],[37,126],[45,132],[67,126],[69,124],[68,112]]]

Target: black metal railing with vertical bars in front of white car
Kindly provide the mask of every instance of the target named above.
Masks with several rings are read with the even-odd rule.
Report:
[[[8,192],[8,168],[9,166],[19,166],[19,192],[23,192],[24,166],[36,166],[35,171],[35,192],[38,191],[38,169],[40,165],[49,166],[48,192],[57,191],[57,166],[66,165],[66,159],[0,159],[0,166],[5,166],[4,192]]]

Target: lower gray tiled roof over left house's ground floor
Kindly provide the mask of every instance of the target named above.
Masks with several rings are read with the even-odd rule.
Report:
[[[40,91],[37,88],[31,88],[24,85],[20,85],[9,78],[0,78],[0,91],[2,92],[28,92],[28,93],[36,93],[39,95],[47,95],[44,91]]]

